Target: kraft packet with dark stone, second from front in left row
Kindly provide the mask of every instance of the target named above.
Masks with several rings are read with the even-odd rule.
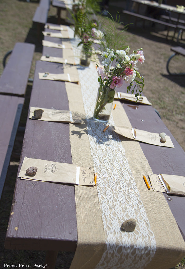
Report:
[[[41,118],[36,118],[34,116],[34,111],[42,109]],[[58,109],[49,109],[49,108],[40,108],[40,107],[30,107],[30,119],[36,119],[39,121],[54,121],[54,122],[71,122],[71,123],[80,123],[81,117],[75,113],[68,110],[58,110]]]

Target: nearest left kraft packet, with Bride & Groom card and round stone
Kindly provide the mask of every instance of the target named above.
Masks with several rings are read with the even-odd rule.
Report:
[[[38,168],[36,174],[27,175],[26,170],[33,166]],[[27,158],[26,156],[24,157],[18,177],[27,180],[55,183],[95,185],[92,167],[79,167],[75,164]]]

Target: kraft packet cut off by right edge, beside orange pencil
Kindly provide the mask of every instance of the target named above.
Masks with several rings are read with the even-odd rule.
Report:
[[[153,190],[185,196],[185,177],[166,174],[150,174]],[[161,184],[161,185],[160,185]]]

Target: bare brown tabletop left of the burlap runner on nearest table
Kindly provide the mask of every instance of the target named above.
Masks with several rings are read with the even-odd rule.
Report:
[[[37,62],[31,106],[68,109],[65,84],[38,79],[38,72],[47,69],[50,73],[60,73],[60,66]],[[69,125],[28,119],[20,165],[24,156],[72,163]],[[74,186],[17,179],[11,212],[14,214],[10,215],[6,248],[75,250],[77,224]]]

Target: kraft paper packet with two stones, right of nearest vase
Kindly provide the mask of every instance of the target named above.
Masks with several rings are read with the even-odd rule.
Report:
[[[125,136],[129,139],[141,141],[141,142],[156,145],[156,146],[174,148],[171,138],[167,135],[165,136],[166,142],[161,143],[160,142],[161,137],[159,136],[158,133],[151,133],[151,132],[139,130],[136,128],[130,128],[130,129],[123,128],[119,126],[113,126],[113,130],[116,133],[121,134],[122,136]]]

